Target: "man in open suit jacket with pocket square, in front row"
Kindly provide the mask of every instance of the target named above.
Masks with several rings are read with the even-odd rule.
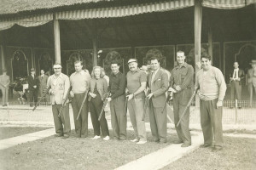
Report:
[[[148,73],[149,93],[149,120],[151,133],[155,142],[166,143],[167,116],[166,109],[163,113],[166,102],[166,90],[168,88],[168,76],[166,71],[160,69],[160,60],[156,56],[151,59],[152,72]]]

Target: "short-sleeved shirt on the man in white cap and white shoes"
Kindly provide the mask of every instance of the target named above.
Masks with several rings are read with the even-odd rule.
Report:
[[[127,72],[127,88],[129,94],[133,94],[141,87],[142,82],[147,82],[147,74],[144,71],[137,69],[136,71]],[[144,91],[140,94],[137,94],[135,98],[144,98]]]

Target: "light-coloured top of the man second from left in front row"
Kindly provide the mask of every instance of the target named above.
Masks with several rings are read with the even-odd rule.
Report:
[[[70,76],[70,83],[74,94],[82,94],[90,87],[90,74],[83,70],[74,72]]]

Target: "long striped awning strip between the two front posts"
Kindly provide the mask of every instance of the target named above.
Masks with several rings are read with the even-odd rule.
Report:
[[[175,0],[165,2],[134,4],[121,7],[110,8],[91,8],[73,11],[62,11],[56,13],[57,20],[81,20],[95,18],[114,18],[125,17],[137,14],[146,14],[152,12],[164,12],[179,8],[194,6],[194,0]]]

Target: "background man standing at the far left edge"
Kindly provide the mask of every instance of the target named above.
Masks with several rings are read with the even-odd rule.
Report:
[[[3,94],[3,107],[7,106],[8,102],[8,92],[9,92],[9,76],[7,76],[7,71],[3,70],[3,75],[0,76],[0,89]]]

